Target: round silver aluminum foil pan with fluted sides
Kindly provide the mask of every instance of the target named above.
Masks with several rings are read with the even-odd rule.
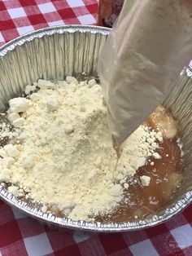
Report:
[[[85,72],[97,75],[98,55],[109,29],[94,26],[59,26],[41,29],[16,38],[0,48],[0,110],[7,108],[8,100],[19,96],[24,87],[39,78],[57,82],[67,75]],[[69,218],[43,214],[41,210],[19,201],[0,186],[0,198],[25,214],[37,218],[50,227],[63,227],[92,232],[124,232],[151,227],[181,212],[192,201],[192,64],[185,68],[177,86],[164,105],[171,108],[179,121],[184,144],[184,181],[174,201],[167,209],[143,220],[127,223],[86,223]]]

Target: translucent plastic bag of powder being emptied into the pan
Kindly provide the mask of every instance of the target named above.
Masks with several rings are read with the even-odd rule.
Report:
[[[132,2],[130,8],[124,1],[98,60],[117,152],[168,95],[192,57],[192,0]]]

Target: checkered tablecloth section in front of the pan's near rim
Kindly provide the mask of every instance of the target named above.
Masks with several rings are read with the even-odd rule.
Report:
[[[0,201],[0,255],[3,256],[190,256],[192,206],[167,223],[137,232],[57,232]]]

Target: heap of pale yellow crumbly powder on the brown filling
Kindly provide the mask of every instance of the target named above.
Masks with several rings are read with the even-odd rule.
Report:
[[[56,205],[68,218],[92,221],[122,201],[128,177],[133,179],[147,157],[159,157],[155,149],[162,135],[140,126],[127,139],[115,171],[101,87],[75,77],[58,84],[39,80],[25,93],[33,87],[40,90],[28,99],[10,100],[8,117],[20,135],[18,144],[0,148],[0,182],[23,188],[8,190],[17,196],[28,192],[26,198],[41,202],[44,213],[45,205]]]

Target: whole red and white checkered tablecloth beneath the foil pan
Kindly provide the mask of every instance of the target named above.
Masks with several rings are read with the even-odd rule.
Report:
[[[97,8],[97,0],[0,0],[0,45],[47,26],[95,24]],[[0,201],[0,256],[190,256],[191,225],[192,205],[167,223],[142,231],[60,233]]]

